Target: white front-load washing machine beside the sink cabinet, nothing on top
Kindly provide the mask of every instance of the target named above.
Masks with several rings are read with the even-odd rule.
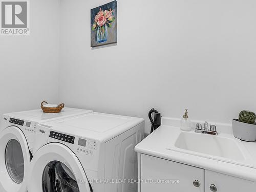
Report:
[[[29,192],[137,191],[143,119],[90,113],[38,128]]]

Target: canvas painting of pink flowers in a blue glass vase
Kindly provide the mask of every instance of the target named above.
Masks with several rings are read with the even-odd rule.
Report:
[[[117,2],[91,9],[91,47],[117,42]]]

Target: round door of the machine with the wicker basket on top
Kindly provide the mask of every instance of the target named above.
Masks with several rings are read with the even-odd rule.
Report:
[[[0,132],[0,191],[26,192],[30,153],[23,132],[10,126]]]

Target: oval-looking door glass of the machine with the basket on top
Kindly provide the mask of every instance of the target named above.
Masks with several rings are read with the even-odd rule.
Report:
[[[20,143],[11,139],[5,150],[5,164],[9,176],[15,183],[22,183],[24,178],[24,158]]]

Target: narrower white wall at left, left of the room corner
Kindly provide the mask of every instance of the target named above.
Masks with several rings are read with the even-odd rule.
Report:
[[[0,115],[58,101],[59,1],[30,6],[30,36],[0,36]]]

